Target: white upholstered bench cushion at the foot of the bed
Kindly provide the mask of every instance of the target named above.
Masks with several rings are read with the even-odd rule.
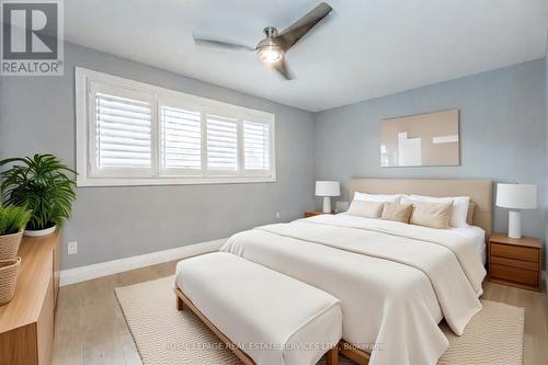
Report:
[[[256,364],[316,364],[341,339],[339,299],[231,253],[179,262],[175,285]]]

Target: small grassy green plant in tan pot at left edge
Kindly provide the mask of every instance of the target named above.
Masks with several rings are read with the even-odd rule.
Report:
[[[0,206],[0,260],[18,256],[21,237],[31,214],[31,210],[19,206]]]

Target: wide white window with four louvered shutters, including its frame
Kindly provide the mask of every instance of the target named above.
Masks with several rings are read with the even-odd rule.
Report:
[[[76,69],[79,186],[275,181],[274,115]]]

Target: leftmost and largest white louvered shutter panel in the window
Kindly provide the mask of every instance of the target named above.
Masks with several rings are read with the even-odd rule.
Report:
[[[95,168],[150,168],[149,102],[95,93]]]

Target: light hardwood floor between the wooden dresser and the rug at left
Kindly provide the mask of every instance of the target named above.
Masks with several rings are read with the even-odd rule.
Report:
[[[61,287],[53,364],[140,364],[114,288],[174,272],[170,262]]]

